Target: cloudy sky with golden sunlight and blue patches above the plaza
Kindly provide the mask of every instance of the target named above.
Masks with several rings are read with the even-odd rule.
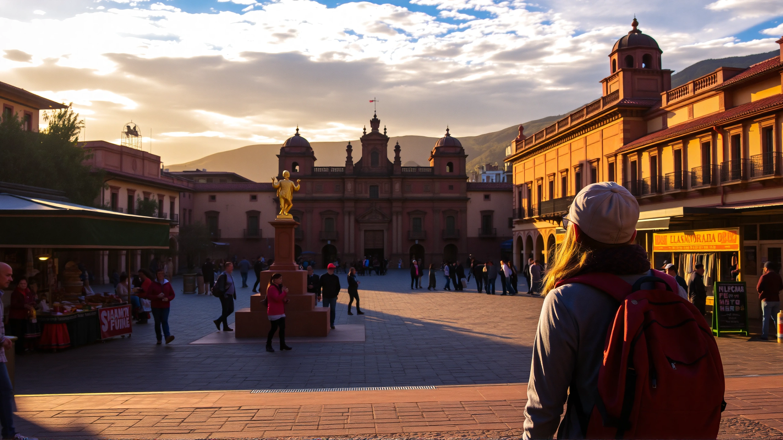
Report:
[[[389,135],[480,135],[600,96],[634,15],[675,71],[783,35],[780,0],[0,0],[0,81],[164,164],[358,139],[373,98]]]

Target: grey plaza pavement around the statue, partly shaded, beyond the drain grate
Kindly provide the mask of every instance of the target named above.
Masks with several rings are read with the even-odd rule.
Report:
[[[341,280],[345,275],[340,274]],[[251,274],[250,278],[254,280]],[[239,277],[236,277],[239,280]],[[179,294],[171,303],[169,345],[156,345],[152,321],[133,336],[20,355],[18,394],[248,390],[527,382],[542,298],[410,290],[407,271],[360,276],[363,316],[348,316],[345,290],[337,326],[364,323],[366,342],[302,343],[267,353],[261,344],[189,344],[215,330],[217,298]],[[347,284],[347,283],[346,283]],[[438,286],[442,287],[442,277]],[[249,306],[240,289],[236,308]],[[100,291],[100,290],[96,290]],[[783,373],[783,344],[748,337],[718,340],[728,377]]]

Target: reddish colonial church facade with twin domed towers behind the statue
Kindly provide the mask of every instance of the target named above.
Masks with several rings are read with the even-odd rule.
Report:
[[[317,167],[307,139],[297,133],[280,148],[279,178],[301,179],[290,211],[301,222],[297,251],[316,251],[326,263],[338,256],[413,258],[425,265],[464,259],[467,249],[465,150],[446,135],[435,142],[430,166],[403,167],[399,143],[389,157],[386,128],[377,115],[361,137],[361,157],[346,147],[345,167]]]

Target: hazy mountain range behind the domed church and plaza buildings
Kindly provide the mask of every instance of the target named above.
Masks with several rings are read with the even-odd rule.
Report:
[[[672,87],[678,87],[687,81],[709,74],[718,67],[750,67],[777,55],[778,51],[773,51],[748,56],[730,56],[716,60],[702,60],[680,70],[677,74],[673,74]],[[525,134],[532,135],[564,116],[565,114],[542,117],[535,121],[525,122],[522,126],[525,128]],[[459,136],[455,134],[462,142],[468,157],[467,172],[470,173],[474,168],[482,164],[502,164],[506,147],[511,145],[511,141],[517,137],[517,134],[518,125],[512,125],[497,132],[478,136]],[[426,166],[428,165],[430,151],[435,146],[435,141],[437,140],[438,138],[417,135],[391,137],[388,143],[389,159],[393,160],[393,156],[391,156],[393,154],[392,148],[395,142],[399,142],[405,166],[414,164]],[[357,160],[361,156],[361,150],[358,152],[356,150],[360,149],[362,144],[359,142],[359,139],[354,139],[351,143],[354,148],[354,160]],[[348,145],[347,141],[310,142],[310,145],[316,153],[316,158],[318,159],[316,164],[318,166],[340,167],[345,165],[345,146]],[[280,153],[280,144],[248,145],[236,150],[210,154],[184,164],[167,165],[166,168],[169,171],[203,168],[206,168],[207,171],[233,171],[255,182],[266,182],[271,176],[277,175],[277,161],[270,160],[270,157],[277,153]]]

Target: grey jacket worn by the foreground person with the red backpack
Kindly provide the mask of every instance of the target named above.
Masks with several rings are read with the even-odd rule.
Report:
[[[633,284],[645,275],[648,272],[620,278]],[[587,427],[579,419],[589,420],[593,412],[606,332],[618,306],[608,294],[584,284],[564,284],[544,298],[533,344],[523,438],[552,438],[569,388],[571,398],[558,437],[584,438]]]

